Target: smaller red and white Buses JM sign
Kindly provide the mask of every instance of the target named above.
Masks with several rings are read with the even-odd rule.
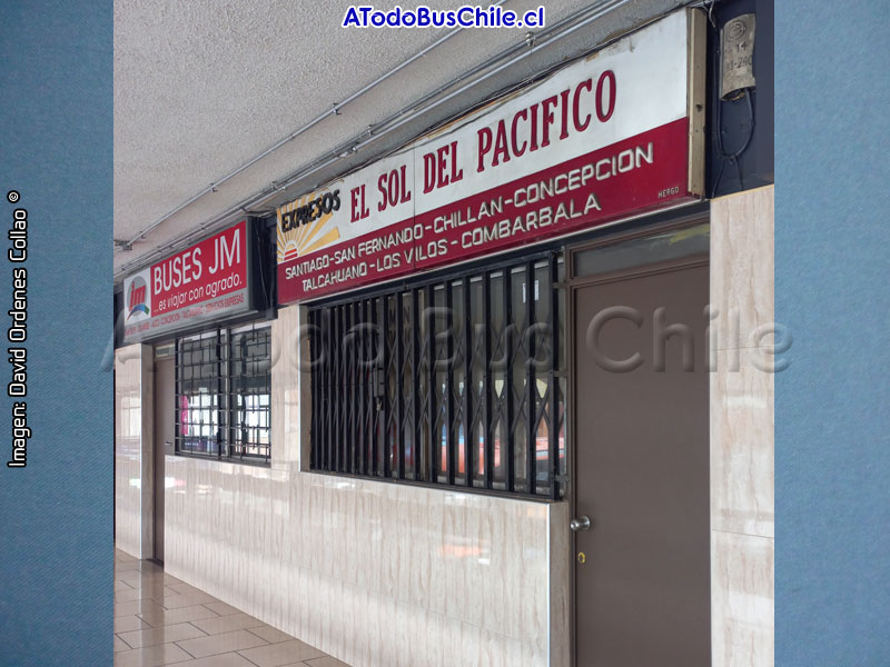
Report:
[[[125,279],[123,340],[249,311],[247,221]]]

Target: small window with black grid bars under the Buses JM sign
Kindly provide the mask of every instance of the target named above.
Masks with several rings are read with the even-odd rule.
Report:
[[[269,462],[268,326],[218,329],[176,344],[176,451]]]

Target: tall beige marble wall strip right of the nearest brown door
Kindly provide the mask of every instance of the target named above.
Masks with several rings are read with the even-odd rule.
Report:
[[[711,202],[714,667],[773,664],[773,186]]]

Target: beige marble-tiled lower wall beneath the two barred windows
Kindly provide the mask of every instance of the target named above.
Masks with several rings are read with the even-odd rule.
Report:
[[[167,470],[167,571],[264,623],[356,667],[453,665],[454,650],[548,664],[564,504],[181,457]]]

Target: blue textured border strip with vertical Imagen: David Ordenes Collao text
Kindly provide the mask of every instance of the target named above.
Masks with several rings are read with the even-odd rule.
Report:
[[[112,3],[4,2],[0,62],[3,227],[16,206],[28,211],[19,266],[33,431],[27,467],[8,468],[12,399],[3,396],[0,663],[111,665]],[[12,265],[0,265],[6,311]]]

